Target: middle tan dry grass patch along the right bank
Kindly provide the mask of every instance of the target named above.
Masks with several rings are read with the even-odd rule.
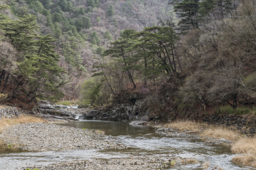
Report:
[[[238,133],[236,131],[231,131],[227,128],[207,128],[203,131],[201,136],[209,136],[217,139],[228,139],[228,140],[237,140],[239,139]]]

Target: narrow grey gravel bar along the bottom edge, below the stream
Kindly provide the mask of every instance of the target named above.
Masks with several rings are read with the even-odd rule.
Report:
[[[50,165],[45,167],[29,167],[29,169],[44,169],[44,170],[63,170],[63,169],[99,169],[99,170],[141,170],[141,169],[166,169],[171,166],[198,163],[196,159],[181,158],[175,155],[170,156],[144,156],[144,157],[132,157],[132,158],[113,158],[113,159],[94,159],[90,161],[73,161],[66,163],[59,163],[56,165]]]

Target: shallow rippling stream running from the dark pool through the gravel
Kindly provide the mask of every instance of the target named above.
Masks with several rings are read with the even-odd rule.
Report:
[[[76,128],[99,129],[105,131],[108,138],[116,139],[129,146],[124,150],[69,150],[50,152],[18,152],[1,150],[0,169],[20,169],[21,167],[59,163],[62,161],[90,160],[93,158],[130,158],[143,155],[178,155],[182,158],[196,158],[199,163],[176,165],[171,169],[202,169],[203,162],[222,169],[252,169],[233,164],[230,148],[212,145],[196,139],[166,137],[155,134],[156,128],[134,126],[129,123],[108,121],[78,121],[61,125]]]

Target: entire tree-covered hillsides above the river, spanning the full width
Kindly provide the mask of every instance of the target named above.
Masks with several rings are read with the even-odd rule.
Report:
[[[1,1],[1,93],[93,105],[140,93],[168,114],[252,108],[255,15],[251,0]]]

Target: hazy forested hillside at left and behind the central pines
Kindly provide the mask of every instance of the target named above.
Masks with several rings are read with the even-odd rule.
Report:
[[[4,4],[1,6],[1,16],[4,16],[1,18],[1,37],[3,37],[1,41],[8,43],[12,48],[10,49],[12,53],[6,54],[6,58],[1,58],[1,63],[6,64],[0,69],[1,93],[10,93],[7,87],[18,89],[12,90],[9,94],[12,98],[22,93],[29,98],[49,97],[47,91],[51,94],[53,91],[56,93],[57,89],[40,90],[42,82],[50,83],[51,86],[61,90],[57,98],[63,96],[66,99],[78,98],[80,85],[91,76],[94,62],[101,60],[103,51],[113,39],[120,36],[122,30],[125,28],[143,30],[146,26],[157,25],[159,20],[167,20],[172,16],[175,19],[173,7],[167,5],[166,0],[6,0],[0,1],[0,4]],[[13,28],[9,27],[9,23],[12,23]],[[29,30],[23,28],[22,24],[28,24]],[[12,39],[14,34],[17,37]],[[33,59],[28,55],[35,55],[37,50],[40,51],[37,42],[40,41],[39,36],[48,37],[50,39],[48,45],[52,45],[53,42],[54,47],[49,46],[49,50],[54,49],[56,55],[54,62],[61,67],[61,71],[58,70],[59,73],[61,72],[59,78],[44,80],[46,74],[36,75],[40,67],[33,65],[36,61],[32,61]],[[34,42],[21,42],[28,39]],[[15,41],[21,45],[16,44]],[[25,47],[31,47],[34,52]],[[9,67],[9,63],[5,63],[7,60],[13,64],[12,67]],[[26,72],[22,70],[22,67],[29,67],[24,63],[25,61],[33,70]],[[47,72],[47,74],[52,73]],[[22,77],[23,81],[20,82],[18,77]],[[33,82],[34,85],[31,87],[31,81],[34,81],[31,80],[32,77],[36,81],[39,77],[43,77],[43,80],[38,81],[37,85]]]

